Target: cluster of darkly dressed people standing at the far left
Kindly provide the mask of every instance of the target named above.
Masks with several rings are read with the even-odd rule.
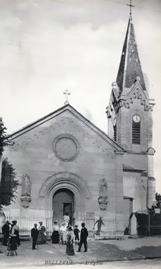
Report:
[[[4,236],[3,246],[8,246],[8,250],[14,251],[20,246],[20,236],[19,236],[19,227],[17,221],[13,220],[10,223],[6,220],[6,223],[1,228],[2,234]]]

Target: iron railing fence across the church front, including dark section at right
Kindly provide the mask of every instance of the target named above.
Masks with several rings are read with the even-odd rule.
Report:
[[[161,234],[161,214],[152,212],[136,213],[137,232],[138,236],[153,236]],[[6,216],[6,220],[11,223],[17,220],[20,227],[20,235],[30,235],[30,230],[35,223],[42,221],[46,227],[46,232],[49,236],[52,235],[53,218],[37,217],[37,216]],[[88,229],[89,237],[93,238],[97,234],[98,218],[88,218],[85,216],[82,221]],[[102,218],[104,225],[100,229],[100,237],[129,235],[131,230],[131,223],[129,218]],[[77,222],[76,222],[77,223]],[[96,223],[96,224],[95,224]],[[74,225],[75,223],[73,223]],[[79,227],[81,228],[81,227]]]

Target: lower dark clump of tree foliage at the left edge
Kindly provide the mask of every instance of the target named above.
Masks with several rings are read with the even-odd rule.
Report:
[[[13,165],[8,162],[8,158],[2,160],[1,170],[1,207],[9,206],[16,198],[16,190],[18,188],[18,180],[16,180],[16,173]]]

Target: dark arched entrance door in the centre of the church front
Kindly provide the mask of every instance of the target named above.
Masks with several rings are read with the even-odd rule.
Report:
[[[53,220],[57,220],[59,227],[64,218],[64,213],[68,213],[71,225],[73,225],[74,216],[74,194],[70,189],[58,189],[52,199]]]

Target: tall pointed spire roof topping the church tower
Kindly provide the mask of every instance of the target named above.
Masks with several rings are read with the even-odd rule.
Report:
[[[141,87],[143,90],[146,90],[143,72],[141,69],[141,62],[138,56],[138,48],[136,45],[132,16],[130,13],[129,24],[124,40],[121,61],[119,64],[119,71],[117,74],[119,94],[125,94],[126,90],[130,89],[133,85],[133,82],[136,81],[136,77],[140,77]]]

